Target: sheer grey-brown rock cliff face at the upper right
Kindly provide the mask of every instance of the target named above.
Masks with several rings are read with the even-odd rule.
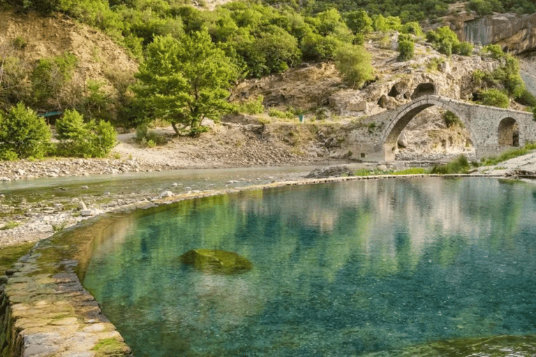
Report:
[[[519,54],[536,47],[536,13],[490,15],[468,20],[461,39],[481,45],[496,43],[503,50]]]

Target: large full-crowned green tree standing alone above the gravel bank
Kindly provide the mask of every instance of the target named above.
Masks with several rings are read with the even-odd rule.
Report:
[[[170,121],[177,135],[186,129],[195,135],[204,117],[218,119],[230,108],[225,98],[237,66],[205,30],[180,40],[157,36],[135,77],[133,90],[157,116]]]

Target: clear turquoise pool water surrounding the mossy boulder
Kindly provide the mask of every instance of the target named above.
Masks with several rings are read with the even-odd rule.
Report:
[[[254,268],[181,266],[195,248]],[[135,356],[358,356],[535,334],[536,188],[396,179],[181,202],[118,225],[84,285]]]

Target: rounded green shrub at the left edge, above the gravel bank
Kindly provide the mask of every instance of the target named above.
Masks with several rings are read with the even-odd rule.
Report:
[[[0,114],[0,157],[43,158],[50,150],[50,128],[36,112],[22,103]]]

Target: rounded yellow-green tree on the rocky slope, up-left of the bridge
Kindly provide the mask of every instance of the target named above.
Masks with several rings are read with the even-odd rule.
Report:
[[[352,88],[361,88],[374,79],[371,54],[364,47],[341,45],[335,53],[335,66]]]

